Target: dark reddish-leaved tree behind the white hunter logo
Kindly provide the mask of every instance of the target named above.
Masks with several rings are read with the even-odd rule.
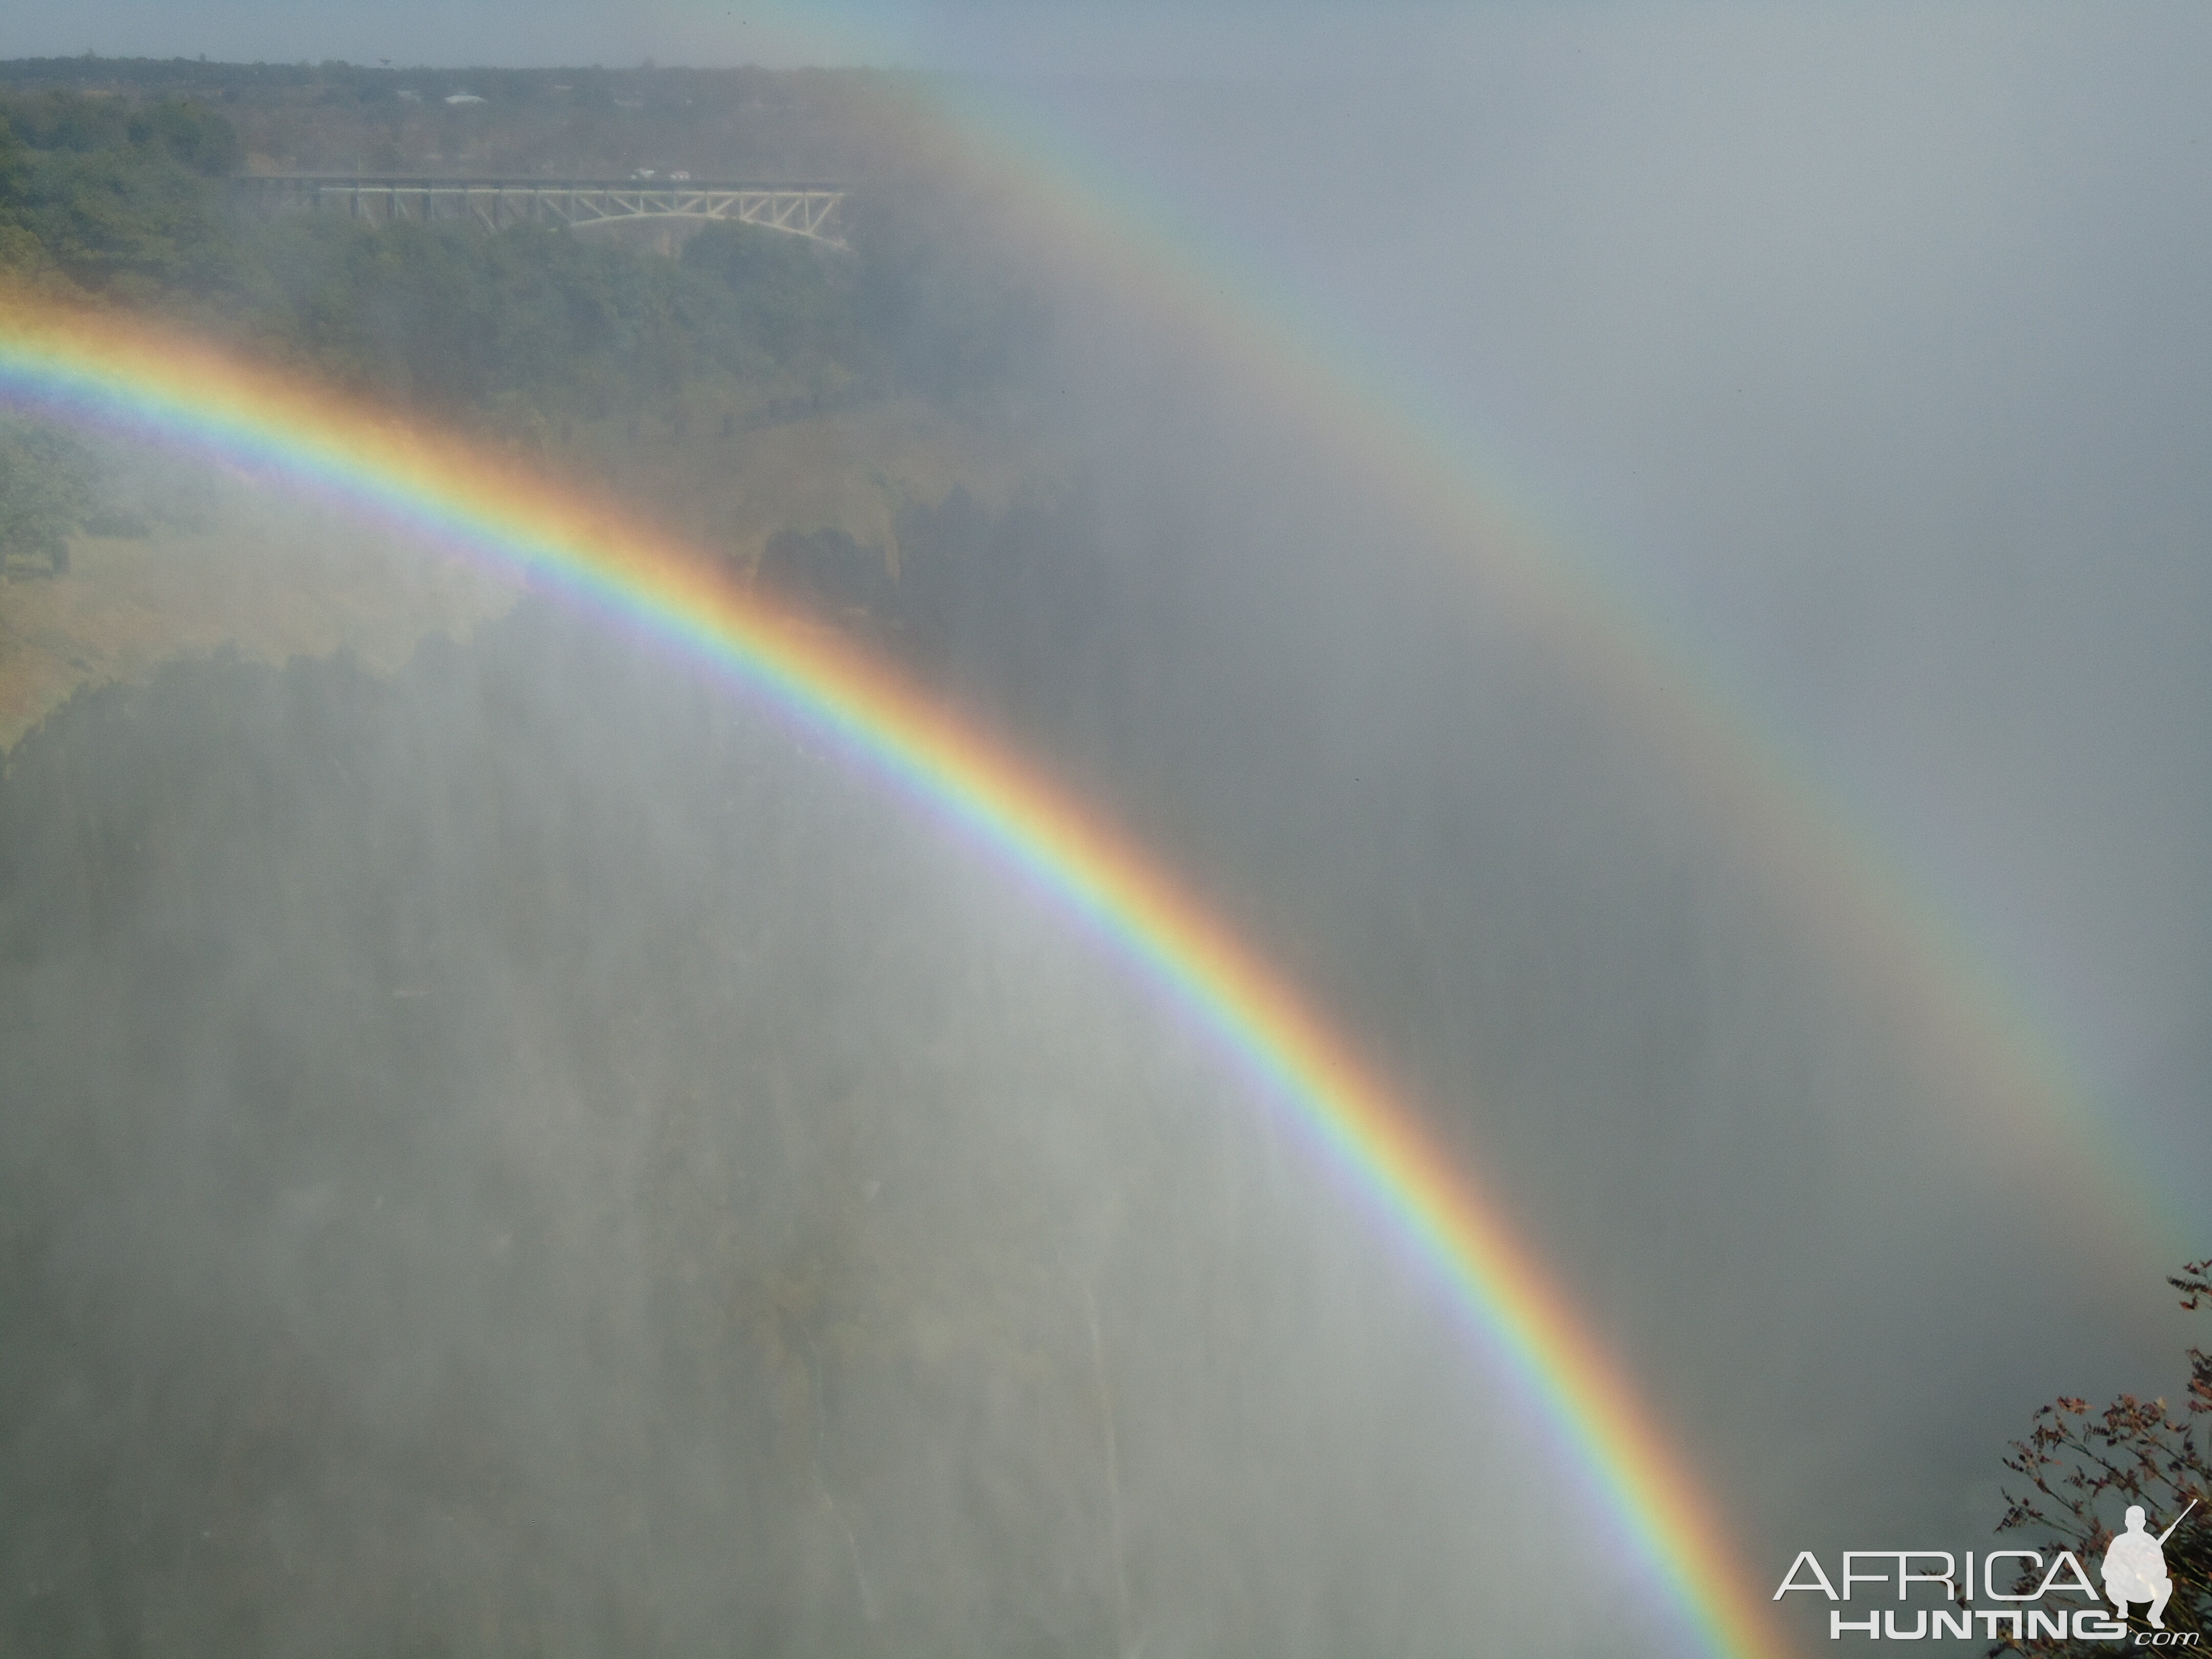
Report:
[[[2212,1298],[2208,1274],[2212,1259],[2192,1261],[2166,1283],[2194,1312]],[[2004,1460],[2026,1489],[2006,1489],[2004,1520],[1997,1522],[1997,1531],[2039,1531],[2046,1555],[2073,1551],[2095,1573],[2112,1542],[2112,1520],[2128,1504],[2141,1504],[2150,1531],[2163,1531],[2194,1502],[2192,1520],[2203,1517],[2205,1524],[2181,1526],[2166,1542],[2166,1575],[2174,1582],[2166,1624],[2174,1630],[2199,1630],[2212,1615],[2212,1455],[2199,1438],[2212,1427],[2201,1422],[2212,1413],[2212,1354],[2192,1347],[2188,1360],[2188,1409],[2181,1416],[2163,1398],[2137,1400],[2132,1394],[2104,1411],[2064,1396],[2037,1409],[2028,1438],[2015,1440]],[[2035,1588],[2033,1579],[2020,1588]],[[2106,1650],[2108,1644],[2095,1641],[2004,1641],[1991,1652],[2077,1659]]]

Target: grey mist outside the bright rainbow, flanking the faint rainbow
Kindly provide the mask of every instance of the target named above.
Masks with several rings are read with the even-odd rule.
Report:
[[[1949,1093],[1958,1057],[1900,1062],[1818,905],[1761,891],[1750,827],[1522,637],[1480,549],[1332,491],[1298,438],[1208,447],[1265,425],[1234,387],[1115,471],[1135,518],[1190,513],[1155,533],[1179,580],[1237,595],[1172,653],[1219,681],[1152,739],[1208,750],[1186,805],[1221,768],[1267,801],[1212,880],[1294,914],[1332,1006],[1513,1172],[1776,1579],[1781,1540],[1982,1535],[2039,1398],[2177,1387],[2159,1250],[2201,1237],[2208,1155],[2208,42],[2179,11],[2108,24],[1511,13],[1402,75],[1029,106],[1170,239],[1387,363],[1409,429],[1455,434],[1639,619],[1655,684],[1690,661],[1747,710],[2059,1055],[2081,1128],[2026,1199],[2028,1130]],[[1192,708],[1234,710],[1210,748]],[[2088,1197],[2099,1157],[2126,1212]]]

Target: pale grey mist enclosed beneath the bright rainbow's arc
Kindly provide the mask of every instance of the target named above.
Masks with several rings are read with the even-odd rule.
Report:
[[[542,606],[27,739],[0,1099],[9,1648],[1442,1652],[1513,1571],[1511,1413],[1188,1035]]]

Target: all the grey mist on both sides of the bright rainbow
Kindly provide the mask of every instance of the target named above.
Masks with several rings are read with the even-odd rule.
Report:
[[[1498,9],[1396,62],[1316,13],[1192,73],[960,15],[902,35],[936,104],[1343,403],[984,166],[900,396],[1022,482],[909,478],[887,549],[792,518],[748,580],[1329,1013],[1754,1590],[1989,1548],[2037,1405],[2181,1387],[2205,1254],[2208,24]],[[1630,668],[1347,422],[1464,456]],[[878,465],[849,434],[730,442]],[[192,637],[9,750],[7,1639],[1697,1650],[1394,1219],[1046,894],[555,593],[204,489],[416,571],[418,624]],[[1851,945],[1847,869],[1776,885],[1639,675],[1984,1026]]]

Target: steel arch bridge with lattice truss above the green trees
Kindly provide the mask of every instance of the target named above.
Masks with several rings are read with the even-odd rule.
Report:
[[[234,179],[261,212],[345,212],[369,223],[456,221],[484,230],[562,223],[573,230],[635,226],[672,248],[708,223],[761,226],[845,246],[838,184],[741,184],[690,179],[387,179],[336,173],[265,173]]]

